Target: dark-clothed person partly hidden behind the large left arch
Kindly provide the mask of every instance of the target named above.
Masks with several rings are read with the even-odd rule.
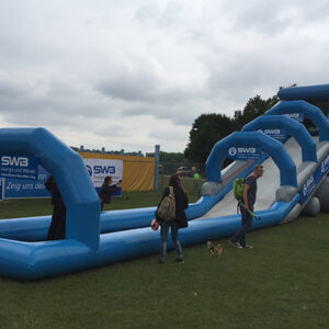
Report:
[[[53,216],[49,226],[47,240],[65,239],[66,231],[66,206],[60,192],[56,185],[54,175],[50,174],[45,182],[46,189],[52,193]]]

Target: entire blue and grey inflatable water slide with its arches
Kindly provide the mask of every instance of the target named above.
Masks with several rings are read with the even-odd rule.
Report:
[[[329,84],[287,88],[264,115],[217,141],[206,161],[203,196],[190,204],[183,246],[232,235],[240,226],[232,181],[264,167],[258,181],[252,229],[329,211],[329,122],[309,102],[329,101]],[[300,123],[310,120],[318,136]],[[280,136],[279,136],[280,135]],[[1,155],[34,157],[52,172],[67,207],[66,239],[45,241],[50,216],[0,220],[0,275],[38,280],[159,251],[150,229],[155,207],[100,212],[100,201],[81,157],[44,128],[0,129]],[[24,156],[24,157],[23,157]],[[236,160],[222,170],[226,157]],[[171,241],[169,248],[172,248]]]

